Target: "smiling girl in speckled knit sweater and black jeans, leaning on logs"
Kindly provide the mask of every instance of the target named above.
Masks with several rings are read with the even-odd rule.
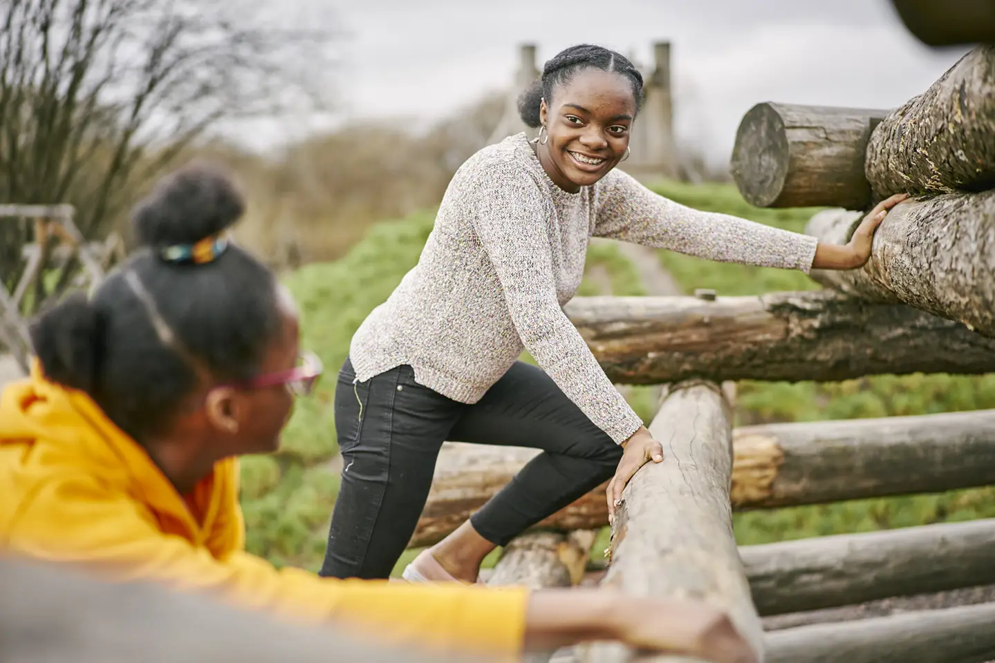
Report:
[[[643,79],[607,49],[571,47],[519,100],[524,134],[457,171],[418,264],[352,339],[335,396],[344,460],[321,574],[386,578],[411,538],[444,440],[542,449],[404,577],[474,582],[495,549],[611,477],[610,506],[666,462],[563,313],[592,237],[723,262],[851,269],[899,197],[847,246],[698,212],[616,166]],[[528,350],[538,367],[517,361]]]

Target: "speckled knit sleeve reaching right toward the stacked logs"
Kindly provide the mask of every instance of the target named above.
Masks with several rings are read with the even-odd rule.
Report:
[[[727,214],[700,212],[613,170],[599,183],[594,235],[718,262],[808,273],[818,240]]]

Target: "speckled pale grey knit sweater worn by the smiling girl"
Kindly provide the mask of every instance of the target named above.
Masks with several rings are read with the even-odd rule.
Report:
[[[419,384],[472,404],[524,347],[584,414],[624,441],[643,421],[562,310],[592,236],[805,272],[816,249],[815,238],[679,205],[617,169],[567,193],[520,133],[453,177],[418,264],[352,339],[357,380],[409,364]]]

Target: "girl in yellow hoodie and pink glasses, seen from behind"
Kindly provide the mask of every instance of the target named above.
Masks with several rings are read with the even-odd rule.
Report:
[[[298,348],[289,293],[224,237],[243,209],[223,174],[175,173],[133,214],[144,249],[33,323],[31,376],[0,397],[0,551],[426,652],[507,659],[617,639],[756,660],[698,602],[320,579],[247,554],[237,457],[277,448],[321,366]]]

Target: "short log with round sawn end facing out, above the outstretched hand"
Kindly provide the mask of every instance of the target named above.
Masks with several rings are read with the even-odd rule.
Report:
[[[871,201],[864,159],[890,110],[758,103],[736,131],[730,170],[757,207],[843,207]]]

